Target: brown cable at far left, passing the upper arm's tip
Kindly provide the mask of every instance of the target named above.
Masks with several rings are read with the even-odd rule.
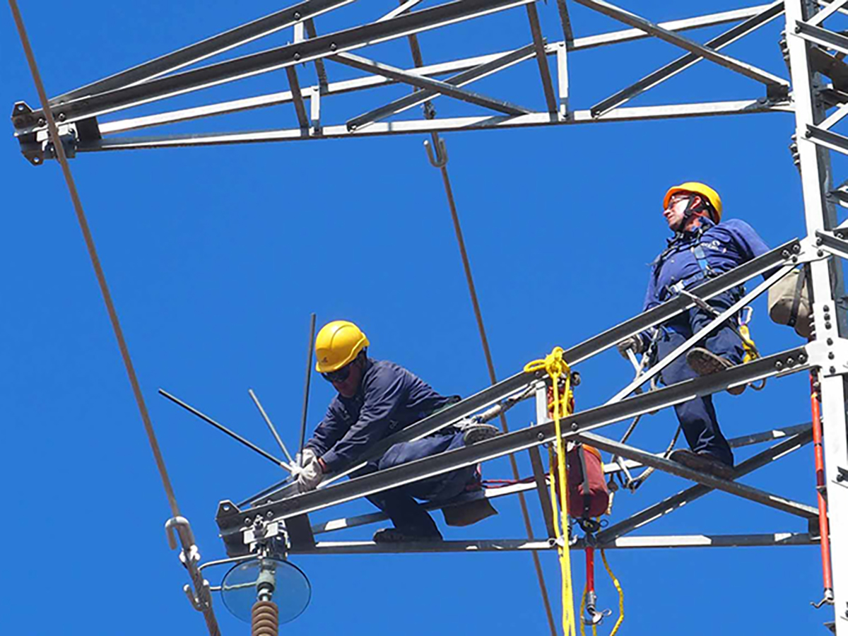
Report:
[[[92,267],[94,268],[94,274],[97,276],[98,285],[100,286],[100,293],[103,294],[103,302],[106,304],[106,310],[109,312],[109,321],[112,323],[112,329],[114,331],[114,337],[118,341],[118,349],[120,349],[120,356],[124,360],[124,366],[126,367],[126,375],[130,379],[130,385],[132,387],[132,393],[136,398],[136,404],[138,405],[138,411],[142,416],[142,422],[144,422],[144,430],[148,434],[148,442],[150,443],[150,449],[153,450],[153,459],[156,460],[156,467],[159,469],[159,477],[162,478],[162,485],[165,487],[165,495],[168,497],[168,505],[170,505],[171,516],[180,516],[180,506],[176,503],[176,494],[174,494],[174,487],[170,483],[170,477],[168,477],[168,469],[165,467],[165,460],[162,457],[162,452],[159,449],[159,442],[156,439],[156,433],[153,431],[153,423],[150,421],[150,414],[148,413],[147,404],[144,402],[144,396],[142,395],[142,388],[138,384],[138,377],[136,376],[135,367],[132,365],[132,360],[130,358],[130,350],[126,346],[126,339],[124,338],[124,332],[120,327],[120,321],[118,320],[118,312],[114,309],[114,303],[112,302],[112,295],[109,293],[109,285],[106,284],[106,276],[103,273],[103,266],[100,265],[100,259],[98,257],[97,248],[94,245],[94,238],[92,237],[92,232],[88,227],[88,220],[86,220],[86,213],[82,209],[82,203],[80,200],[79,192],[76,191],[76,184],[74,182],[74,176],[70,173],[70,165],[68,165],[68,157],[64,153],[64,147],[62,146],[62,140],[59,137],[59,127],[56,126],[56,120],[53,119],[53,112],[50,109],[50,103],[47,100],[47,92],[44,90],[44,83],[42,82],[42,75],[38,72],[38,66],[36,64],[36,56],[32,53],[32,47],[30,45],[30,38],[26,35],[26,27],[24,25],[24,19],[20,15],[20,8],[18,8],[18,3],[16,0],[8,0],[9,8],[12,9],[12,16],[14,17],[14,24],[18,28],[18,35],[20,36],[20,43],[24,47],[24,53],[26,55],[26,62],[30,65],[30,71],[32,73],[32,80],[36,84],[36,91],[38,92],[38,98],[41,100],[42,109],[44,110],[44,117],[47,120],[47,128],[50,131],[50,138],[53,139],[53,146],[56,152],[56,159],[59,159],[59,165],[62,166],[62,173],[64,174],[64,181],[68,185],[68,192],[70,193],[70,200],[74,204],[74,210],[76,213],[76,220],[80,223],[80,229],[82,230],[82,237],[85,238],[86,248],[88,249],[88,256],[92,260]],[[184,543],[184,542],[183,542]],[[183,550],[186,550],[187,546],[183,544]],[[195,583],[195,587],[198,591],[198,594],[204,594],[203,588],[198,587],[198,581],[193,580]],[[204,599],[209,601],[208,594],[204,594]],[[215,619],[215,613],[212,610],[211,604],[205,607],[203,611],[204,620],[206,622],[206,628],[209,630],[209,634],[211,636],[220,636],[220,628],[218,627],[218,622]]]

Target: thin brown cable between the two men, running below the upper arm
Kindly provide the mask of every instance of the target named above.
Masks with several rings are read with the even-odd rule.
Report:
[[[436,133],[432,134],[433,152],[438,152],[439,139]],[[483,354],[486,357],[486,367],[488,369],[488,377],[492,384],[498,382],[498,377],[494,372],[494,363],[492,362],[492,352],[488,348],[488,338],[486,337],[486,326],[483,325],[483,312],[480,310],[480,303],[477,300],[477,288],[474,286],[474,277],[471,276],[471,263],[468,260],[468,252],[466,251],[466,241],[462,236],[462,227],[460,226],[460,216],[456,212],[456,203],[454,201],[454,191],[450,187],[450,178],[448,176],[447,165],[440,167],[442,171],[442,181],[444,181],[444,192],[448,197],[448,205],[450,208],[450,217],[454,221],[454,232],[456,234],[456,243],[460,248],[460,256],[462,257],[462,267],[466,271],[466,282],[468,283],[468,293],[471,295],[471,306],[474,309],[474,317],[477,320],[477,331],[480,332],[480,342],[483,344]],[[510,427],[506,422],[506,416],[500,414],[500,427],[504,432],[510,432]],[[515,455],[510,454],[510,467],[512,468],[512,476],[519,480],[521,477],[518,472],[518,464],[516,463]],[[518,494],[518,502],[522,508],[522,518],[524,519],[524,527],[527,530],[527,538],[533,538],[533,525],[530,522],[530,513],[527,511],[527,500],[523,493]],[[533,567],[536,569],[536,577],[538,578],[538,589],[542,594],[542,603],[544,605],[544,613],[548,618],[548,626],[552,636],[556,636],[556,623],[554,622],[554,613],[550,609],[550,599],[548,598],[548,589],[544,583],[544,573],[542,572],[542,563],[539,561],[538,555],[533,552]]]

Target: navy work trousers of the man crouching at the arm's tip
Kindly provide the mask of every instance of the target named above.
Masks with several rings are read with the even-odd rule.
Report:
[[[463,445],[462,433],[449,429],[449,432],[435,433],[414,442],[394,444],[385,455],[368,466],[364,466],[351,477],[360,477],[374,471],[382,471],[409,461],[421,460]],[[382,493],[372,494],[368,500],[385,512],[394,527],[403,533],[417,537],[441,537],[436,522],[416,499],[424,501],[446,501],[462,493],[466,484],[471,482],[476,471],[475,466],[460,468],[444,475],[430,477],[421,482],[410,483],[400,488],[392,488]]]

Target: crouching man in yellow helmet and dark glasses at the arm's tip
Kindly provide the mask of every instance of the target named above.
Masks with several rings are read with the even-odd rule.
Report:
[[[315,369],[327,382],[332,382],[338,395],[332,399],[324,419],[304,446],[298,462],[301,466],[298,471],[300,492],[317,488],[326,473],[343,471],[354,465],[383,438],[460,400],[457,395],[437,393],[400,365],[369,358],[368,345],[365,333],[348,321],[330,322],[315,338]],[[382,457],[371,460],[351,477],[421,460],[498,433],[496,427],[474,422],[447,427],[426,438],[394,444]],[[416,499],[436,503],[449,501],[479,481],[477,468],[470,466],[372,494],[368,499],[394,524],[394,527],[378,530],[374,540],[380,543],[441,540],[436,523]],[[451,525],[467,525],[497,514],[485,499],[455,507],[465,508],[466,514],[454,507],[445,509],[445,520]]]

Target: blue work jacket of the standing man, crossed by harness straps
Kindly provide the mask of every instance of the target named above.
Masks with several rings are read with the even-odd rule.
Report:
[[[744,220],[719,224],[700,217],[692,232],[678,232],[651,263],[643,311],[664,303],[679,289],[695,287],[705,278],[732,270],[768,251],[768,246]]]

